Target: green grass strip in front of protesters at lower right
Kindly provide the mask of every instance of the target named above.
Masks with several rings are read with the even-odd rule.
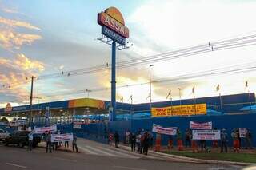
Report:
[[[170,152],[166,151],[164,153],[177,155],[177,156],[198,158],[203,160],[227,160],[227,161],[233,161],[233,162],[256,163],[256,154],[254,153],[214,153],[214,152],[193,153],[188,151],[170,151]]]

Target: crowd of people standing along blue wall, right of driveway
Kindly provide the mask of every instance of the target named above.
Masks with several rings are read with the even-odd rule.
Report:
[[[206,146],[206,140],[193,140],[193,134],[192,130],[190,128],[186,128],[185,132],[185,148],[192,148],[193,144],[201,148],[201,151],[206,151],[210,152],[210,147]],[[176,140],[182,140],[184,139],[182,136],[182,131],[180,129],[177,129],[177,135],[176,135]],[[234,128],[233,132],[231,133],[231,137],[233,138],[234,141],[234,152],[236,152],[236,148],[241,149],[241,137],[239,134],[239,128]],[[221,148],[221,152],[227,152],[227,145],[228,145],[228,133],[226,132],[226,129],[223,128],[220,133],[220,140],[213,140],[211,147],[213,148]],[[124,133],[124,144],[128,144],[131,148],[132,152],[137,152],[139,153],[144,153],[147,155],[148,153],[148,148],[153,146],[153,135],[144,130],[138,130],[138,132],[130,132],[129,130],[126,130]],[[246,135],[244,137],[245,139],[245,148],[251,148],[252,149],[252,133],[250,132],[249,129],[246,129]],[[120,136],[118,132],[110,132],[108,136],[109,144],[112,145],[112,142],[114,140],[115,142],[115,147],[119,147],[119,141],[120,141]],[[184,141],[184,140],[183,140]],[[208,142],[207,142],[208,143]],[[219,144],[219,146],[218,146]],[[238,146],[236,146],[236,144]],[[136,149],[137,148],[137,149]],[[173,148],[173,136],[169,136],[169,143],[168,143],[168,148]]]

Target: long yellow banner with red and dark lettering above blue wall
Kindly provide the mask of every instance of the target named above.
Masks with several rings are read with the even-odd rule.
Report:
[[[194,109],[196,108],[196,109]],[[174,105],[165,108],[152,108],[152,117],[191,116],[206,114],[206,104]]]

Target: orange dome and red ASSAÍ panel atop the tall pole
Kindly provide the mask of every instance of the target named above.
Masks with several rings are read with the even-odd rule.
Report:
[[[125,26],[121,12],[115,7],[110,7],[104,12],[98,13],[98,24],[110,28],[110,30],[124,38],[129,38],[129,29]]]

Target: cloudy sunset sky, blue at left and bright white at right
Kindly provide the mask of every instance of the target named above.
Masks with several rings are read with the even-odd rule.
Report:
[[[97,14],[110,6],[122,12],[130,29],[128,41],[133,44],[117,51],[118,62],[256,34],[253,0],[0,0],[0,107],[7,102],[28,104],[31,76],[61,75],[62,71],[111,63],[110,46],[97,40],[101,38]],[[170,90],[173,100],[255,92],[254,71],[187,76],[236,65],[254,66],[255,46],[117,69],[117,86],[122,86],[117,89],[117,100],[123,97],[124,102],[131,102],[132,95],[134,103],[149,102],[149,65],[153,65],[153,82],[170,79],[152,83],[152,101],[165,101]],[[110,100],[109,88],[109,69],[74,77],[36,78],[34,103],[87,97],[86,89],[102,89],[92,90],[89,97]]]

